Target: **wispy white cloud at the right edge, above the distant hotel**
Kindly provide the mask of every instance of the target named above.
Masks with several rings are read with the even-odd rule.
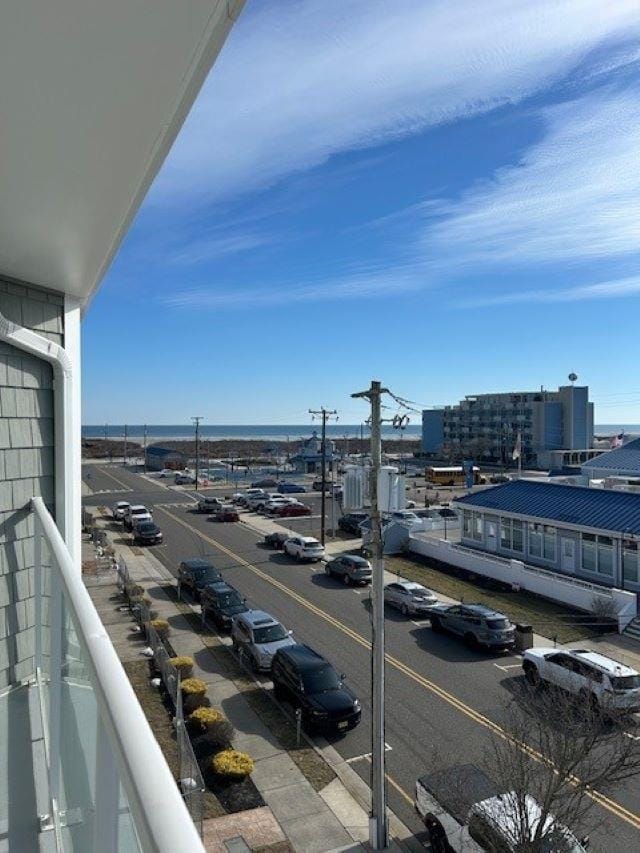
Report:
[[[423,247],[455,267],[613,259],[640,246],[640,99],[607,89],[544,109],[516,166],[440,205]]]

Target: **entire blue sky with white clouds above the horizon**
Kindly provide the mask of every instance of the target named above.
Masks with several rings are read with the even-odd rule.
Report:
[[[83,421],[575,371],[640,423],[639,37],[637,0],[248,0],[84,321]]]

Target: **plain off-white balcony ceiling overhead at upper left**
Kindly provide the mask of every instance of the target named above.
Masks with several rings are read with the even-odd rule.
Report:
[[[243,3],[3,4],[0,274],[91,297]]]

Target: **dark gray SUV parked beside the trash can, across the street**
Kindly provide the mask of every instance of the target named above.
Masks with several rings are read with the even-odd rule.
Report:
[[[515,626],[503,613],[482,604],[437,604],[429,611],[434,631],[450,631],[470,646],[512,649]]]

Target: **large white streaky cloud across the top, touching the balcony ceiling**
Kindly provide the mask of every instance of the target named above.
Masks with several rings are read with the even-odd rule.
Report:
[[[152,199],[228,197],[341,151],[519,102],[598,48],[613,48],[608,70],[626,64],[622,48],[638,34],[637,0],[256,3]]]

